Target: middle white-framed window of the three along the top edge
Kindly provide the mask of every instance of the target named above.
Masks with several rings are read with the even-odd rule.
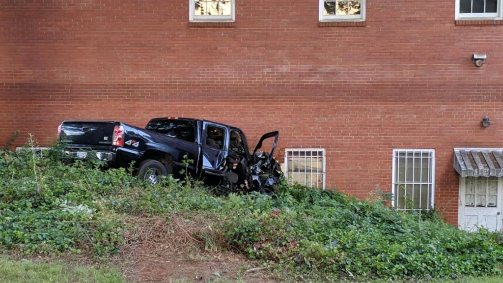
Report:
[[[319,0],[319,21],[365,21],[366,0]]]

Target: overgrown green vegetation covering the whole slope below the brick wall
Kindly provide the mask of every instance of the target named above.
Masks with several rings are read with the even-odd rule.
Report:
[[[181,236],[209,250],[238,249],[264,266],[298,276],[428,279],[502,273],[500,233],[460,231],[434,213],[405,214],[383,201],[285,183],[274,196],[214,196],[188,176],[150,186],[131,170],[65,164],[59,152],[55,148],[45,158],[33,158],[30,148],[0,152],[4,249],[91,251],[106,257],[145,240],[131,236],[134,219],[145,227],[148,221],[141,219],[155,218],[156,231],[177,233],[161,226],[171,227],[181,217],[199,221],[194,223],[205,218],[212,226]]]

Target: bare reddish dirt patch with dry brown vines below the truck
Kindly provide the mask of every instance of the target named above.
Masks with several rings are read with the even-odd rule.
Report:
[[[230,252],[211,216],[129,218],[118,263],[133,282],[278,282],[257,261]]]

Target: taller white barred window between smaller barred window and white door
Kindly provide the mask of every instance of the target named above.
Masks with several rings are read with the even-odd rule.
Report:
[[[430,210],[435,199],[435,150],[393,150],[392,206]]]

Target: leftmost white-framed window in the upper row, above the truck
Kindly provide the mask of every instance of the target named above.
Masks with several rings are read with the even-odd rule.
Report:
[[[234,22],[235,0],[189,0],[191,22]]]

